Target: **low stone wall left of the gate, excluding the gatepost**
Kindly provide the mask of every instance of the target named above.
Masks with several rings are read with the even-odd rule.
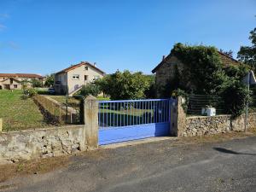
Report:
[[[0,134],[0,164],[72,154],[87,148],[84,125]]]

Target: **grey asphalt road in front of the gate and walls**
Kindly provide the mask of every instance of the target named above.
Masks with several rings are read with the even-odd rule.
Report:
[[[6,191],[256,191],[256,137],[173,146],[172,140],[73,157],[68,167],[18,177]]]

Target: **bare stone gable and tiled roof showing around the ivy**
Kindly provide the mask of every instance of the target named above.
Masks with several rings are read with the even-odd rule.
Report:
[[[218,51],[221,61],[224,63],[224,67],[227,66],[240,66],[241,62],[236,61],[229,55],[225,55],[224,53]],[[152,73],[155,73],[155,84],[157,89],[157,96],[161,96],[161,88],[165,87],[170,81],[175,79],[175,74],[181,69],[184,68],[183,62],[178,60],[176,56],[171,53],[167,56],[163,56],[162,61],[154,67]],[[187,77],[184,77],[186,79]],[[191,86],[193,86],[191,84]]]

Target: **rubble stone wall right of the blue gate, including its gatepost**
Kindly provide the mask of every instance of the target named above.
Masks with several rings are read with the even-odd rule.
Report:
[[[227,131],[244,131],[245,115],[231,119],[230,115],[191,116],[186,117],[183,112],[182,99],[178,97],[176,106],[172,107],[172,135],[177,137],[202,136]],[[256,113],[249,113],[247,117],[247,129],[256,127]]]

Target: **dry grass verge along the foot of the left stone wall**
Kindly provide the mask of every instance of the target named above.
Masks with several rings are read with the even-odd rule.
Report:
[[[38,160],[26,160],[0,166],[0,183],[12,177],[52,172],[69,164],[70,156],[60,156]]]

